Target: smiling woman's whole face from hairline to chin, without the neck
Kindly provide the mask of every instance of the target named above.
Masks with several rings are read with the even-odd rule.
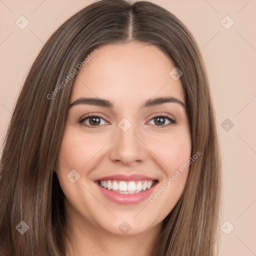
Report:
[[[177,203],[191,140],[174,67],[156,46],[130,42],[99,47],[76,75],[56,173],[77,225],[148,232]]]

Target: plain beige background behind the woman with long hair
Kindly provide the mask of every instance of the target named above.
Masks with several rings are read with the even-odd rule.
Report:
[[[0,0],[1,141],[21,84],[38,51],[64,20],[91,2]],[[188,27],[207,67],[223,158],[224,224],[219,255],[256,255],[256,0],[152,2],[167,8]],[[21,15],[29,21],[24,29],[15,24]],[[223,26],[231,24],[230,19],[224,18],[226,15],[234,21],[229,29]],[[222,124],[226,118],[233,127]]]

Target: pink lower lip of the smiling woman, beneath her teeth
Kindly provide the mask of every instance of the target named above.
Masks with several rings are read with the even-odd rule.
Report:
[[[100,186],[98,183],[96,185],[100,189],[100,191],[103,193],[105,197],[107,197],[109,200],[119,203],[119,204],[135,204],[143,201],[145,198],[149,197],[149,195],[153,192],[155,186],[158,182],[156,182],[153,186],[146,190],[142,190],[138,193],[134,194],[121,194],[114,192],[113,190],[108,190],[102,186]]]

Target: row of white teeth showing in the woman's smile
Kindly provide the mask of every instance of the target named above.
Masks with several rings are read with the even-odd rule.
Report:
[[[138,193],[141,190],[149,189],[154,182],[152,180],[140,181],[119,181],[119,180],[100,180],[99,185],[108,190],[113,190],[122,194]]]

